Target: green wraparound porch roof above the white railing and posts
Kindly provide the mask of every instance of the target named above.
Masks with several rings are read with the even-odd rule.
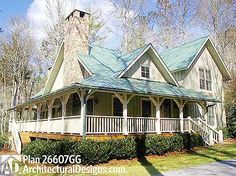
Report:
[[[192,101],[220,102],[219,99],[213,97],[212,95],[186,89],[184,87],[177,87],[168,83],[150,80],[139,80],[133,78],[112,78],[100,75],[93,75],[85,79],[81,83],[75,83],[73,85],[66,86],[49,94],[42,95],[39,92],[37,96],[32,97],[27,103],[44,99],[49,96],[63,93],[69,90],[76,90],[79,88],[111,92],[135,93],[141,95],[155,95],[173,98],[175,97]]]

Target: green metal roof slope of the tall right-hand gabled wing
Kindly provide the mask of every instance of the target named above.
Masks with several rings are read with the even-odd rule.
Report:
[[[208,37],[185,43],[160,53],[161,58],[170,71],[188,69]]]

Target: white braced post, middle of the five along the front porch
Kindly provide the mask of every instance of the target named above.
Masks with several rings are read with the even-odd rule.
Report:
[[[153,102],[154,106],[156,107],[156,132],[157,134],[161,134],[161,104],[165,100],[161,97],[152,97],[150,96],[149,99]]]

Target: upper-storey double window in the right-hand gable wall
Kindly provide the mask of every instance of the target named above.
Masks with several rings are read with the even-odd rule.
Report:
[[[199,75],[200,75],[200,89],[211,90],[212,89],[211,71],[200,68]]]

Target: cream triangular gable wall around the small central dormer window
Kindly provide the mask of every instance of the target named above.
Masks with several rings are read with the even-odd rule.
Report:
[[[145,79],[141,77],[141,66],[148,66],[150,69],[150,80],[166,82],[165,78],[162,76],[156,65],[154,64],[152,58],[148,53],[145,53],[132,67],[124,74],[123,77],[131,77],[136,79]]]

